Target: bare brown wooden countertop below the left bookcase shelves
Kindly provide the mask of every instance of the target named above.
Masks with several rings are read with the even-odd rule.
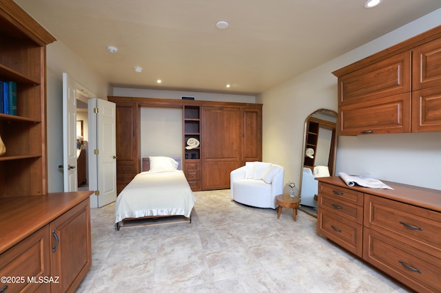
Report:
[[[0,198],[0,253],[57,219],[93,191]]]

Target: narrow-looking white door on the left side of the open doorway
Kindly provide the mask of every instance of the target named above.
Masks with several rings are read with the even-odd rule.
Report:
[[[63,73],[63,182],[64,191],[77,191],[76,83]]]

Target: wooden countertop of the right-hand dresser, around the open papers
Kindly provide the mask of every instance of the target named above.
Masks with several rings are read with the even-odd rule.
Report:
[[[398,202],[404,202],[406,204],[412,204],[413,206],[420,206],[422,208],[429,208],[429,210],[441,212],[441,191],[438,189],[424,188],[384,180],[381,181],[384,182],[384,184],[391,186],[393,190],[361,186],[347,186],[347,184],[338,176],[318,177],[316,180],[319,182],[351,188],[354,191],[378,195],[380,197],[393,199]]]

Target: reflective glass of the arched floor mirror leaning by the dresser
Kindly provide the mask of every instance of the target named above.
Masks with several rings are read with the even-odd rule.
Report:
[[[318,181],[316,177],[334,175],[336,168],[337,113],[318,109],[305,119],[302,169],[300,171],[300,210],[317,217]]]

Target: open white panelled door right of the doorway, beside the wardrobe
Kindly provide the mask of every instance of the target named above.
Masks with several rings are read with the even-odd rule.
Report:
[[[113,102],[93,98],[88,103],[90,140],[90,183],[96,186],[96,206],[116,200],[116,107]],[[92,189],[91,189],[92,190]],[[93,206],[92,206],[93,207]]]

